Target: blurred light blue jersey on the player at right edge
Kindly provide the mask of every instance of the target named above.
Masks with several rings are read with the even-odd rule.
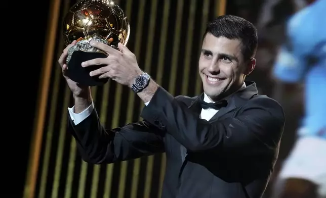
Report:
[[[305,85],[305,117],[299,135],[326,138],[326,0],[292,16],[274,76]]]

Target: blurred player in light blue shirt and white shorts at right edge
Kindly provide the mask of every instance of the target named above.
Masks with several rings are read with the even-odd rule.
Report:
[[[326,1],[307,3],[312,4],[290,18],[274,67],[282,101],[298,95],[304,83],[305,113],[275,184],[277,198],[326,197]]]

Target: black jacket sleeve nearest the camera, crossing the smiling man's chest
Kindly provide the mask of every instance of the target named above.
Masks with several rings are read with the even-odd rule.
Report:
[[[141,116],[166,130],[192,152],[210,150],[241,155],[273,152],[284,126],[281,106],[268,97],[249,100],[235,117],[208,122],[161,87]]]

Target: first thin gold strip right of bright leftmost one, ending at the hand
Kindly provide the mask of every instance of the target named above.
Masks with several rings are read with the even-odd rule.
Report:
[[[49,125],[48,125],[46,142],[45,142],[43,168],[42,168],[41,178],[40,178],[40,182],[39,182],[38,197],[45,197],[49,164],[50,164],[49,161],[50,161],[50,155],[51,155],[52,134],[54,132],[53,128],[54,128],[55,118],[56,118],[58,91],[59,91],[59,85],[60,85],[61,78],[62,78],[61,69],[57,68],[55,70],[55,77],[54,77],[54,83],[53,83],[54,87],[53,87],[52,94],[51,94],[52,100],[51,100],[50,118],[49,118]]]

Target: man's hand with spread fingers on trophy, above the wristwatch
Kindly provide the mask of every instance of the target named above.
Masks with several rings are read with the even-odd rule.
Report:
[[[142,73],[136,60],[136,56],[121,43],[118,43],[120,51],[101,43],[91,41],[90,44],[108,54],[107,58],[98,58],[81,63],[82,67],[91,65],[106,65],[90,72],[90,76],[100,75],[99,78],[111,78],[119,84],[131,87],[135,78]]]

